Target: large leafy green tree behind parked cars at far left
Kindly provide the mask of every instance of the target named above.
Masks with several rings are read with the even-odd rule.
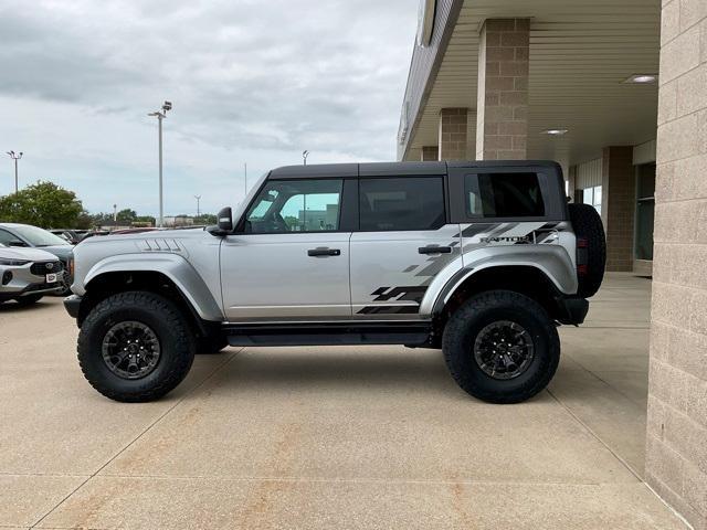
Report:
[[[73,191],[38,181],[18,193],[0,198],[0,221],[42,229],[73,229],[84,208]]]

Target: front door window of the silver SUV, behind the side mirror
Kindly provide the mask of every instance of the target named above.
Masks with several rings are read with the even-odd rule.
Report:
[[[340,179],[273,180],[255,198],[245,232],[333,232],[339,230]]]

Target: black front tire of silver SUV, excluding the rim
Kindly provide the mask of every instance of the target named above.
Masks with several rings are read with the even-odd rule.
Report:
[[[148,326],[160,343],[157,365],[141,379],[123,379],[103,360],[106,332],[125,320]],[[81,326],[77,351],[84,377],[103,395],[122,402],[146,402],[163,396],[187,377],[194,347],[189,324],[175,304],[160,295],[135,290],[109,296],[91,310]]]

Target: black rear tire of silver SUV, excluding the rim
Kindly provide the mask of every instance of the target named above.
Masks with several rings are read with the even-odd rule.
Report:
[[[500,320],[525,328],[535,348],[527,369],[514,379],[492,378],[474,358],[478,332]],[[450,317],[442,350],[450,373],[465,392],[488,403],[520,403],[544,390],[555,375],[560,339],[552,320],[537,301],[510,290],[488,290],[469,298]]]

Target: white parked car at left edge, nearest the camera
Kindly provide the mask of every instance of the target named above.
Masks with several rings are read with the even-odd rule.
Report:
[[[44,295],[63,289],[62,262],[39,248],[15,248],[0,244],[0,304],[15,300],[34,304]]]

